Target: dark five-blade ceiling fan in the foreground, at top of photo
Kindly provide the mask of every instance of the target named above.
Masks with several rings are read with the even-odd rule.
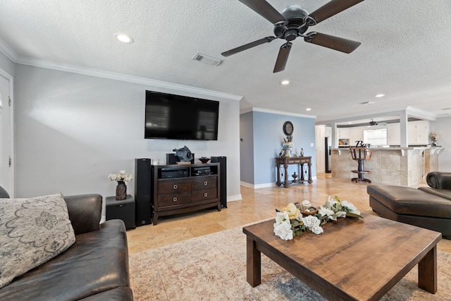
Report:
[[[307,31],[309,26],[314,26],[321,21],[340,13],[341,11],[345,11],[345,9],[350,8],[351,6],[359,4],[364,0],[331,0],[310,14],[298,5],[288,6],[282,11],[282,13],[279,13],[276,11],[276,8],[273,8],[271,4],[268,4],[266,0],[239,1],[242,4],[245,4],[245,6],[251,8],[263,18],[266,18],[269,22],[273,23],[275,36],[257,39],[257,41],[250,42],[249,44],[230,49],[223,52],[223,56],[237,54],[238,52],[256,47],[260,44],[269,43],[273,39],[285,39],[287,42],[280,47],[276,60],[276,66],[274,66],[273,73],[276,73],[285,70],[288,55],[290,54],[292,46],[291,41],[297,37],[304,37],[305,42],[342,51],[346,54],[350,54],[360,46],[360,42],[354,42],[350,39],[334,37],[320,32],[308,32],[307,34],[304,34],[304,32]]]

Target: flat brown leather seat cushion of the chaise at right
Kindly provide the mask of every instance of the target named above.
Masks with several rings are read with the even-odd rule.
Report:
[[[451,219],[451,203],[438,195],[394,185],[369,185],[366,191],[397,214]]]

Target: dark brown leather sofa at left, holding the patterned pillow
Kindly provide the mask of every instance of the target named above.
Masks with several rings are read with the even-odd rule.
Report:
[[[5,197],[8,193],[0,187],[0,198]],[[123,221],[99,224],[101,195],[73,195],[64,200],[75,243],[14,278],[0,289],[0,300],[133,300]]]

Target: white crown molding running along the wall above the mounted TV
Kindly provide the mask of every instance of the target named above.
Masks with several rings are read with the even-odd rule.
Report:
[[[168,89],[168,90],[176,90],[176,91],[180,91],[180,92],[195,93],[195,94],[208,96],[208,97],[211,97],[214,99],[228,99],[228,100],[235,100],[238,102],[242,99],[242,96],[235,95],[235,94],[217,92],[217,91],[213,91],[213,90],[206,90],[206,89],[190,87],[190,86],[186,86],[186,85],[178,85],[178,84],[174,84],[171,82],[163,82],[161,80],[151,80],[149,78],[141,78],[138,76],[126,75],[126,74],[122,74],[122,73],[114,73],[114,72],[103,71],[103,70],[98,70],[98,69],[85,68],[85,67],[70,65],[70,64],[66,64],[66,63],[56,63],[54,61],[32,59],[32,58],[25,57],[25,56],[18,56],[15,60],[11,60],[11,61],[13,61],[14,63],[20,63],[22,65],[27,65],[27,66],[47,68],[47,69],[65,71],[65,72],[70,72],[70,73],[78,73],[78,74],[82,74],[82,75],[95,76],[97,78],[108,78],[110,80],[121,80],[123,82],[132,82],[135,84],[149,85],[149,86],[159,87],[159,88]]]

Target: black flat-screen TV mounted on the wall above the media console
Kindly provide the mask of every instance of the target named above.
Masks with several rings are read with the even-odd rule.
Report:
[[[219,102],[146,91],[144,138],[218,140]]]

